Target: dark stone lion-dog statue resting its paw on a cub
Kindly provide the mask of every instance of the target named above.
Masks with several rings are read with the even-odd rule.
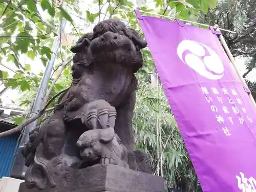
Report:
[[[55,106],[53,115],[30,133],[23,150],[28,186],[55,187],[53,178],[61,166],[78,169],[106,162],[121,165],[123,161],[122,165],[131,169],[152,173],[149,158],[135,150],[132,129],[137,88],[134,73],[142,67],[140,50],[145,47],[146,42],[135,30],[115,19],[100,22],[92,33],[78,39],[71,49],[75,53],[72,84]],[[99,136],[92,135],[91,139],[98,140],[82,144],[88,143],[90,134],[100,134],[92,130],[109,128],[114,128],[115,137],[99,140]],[[82,134],[89,130],[84,136],[87,140],[83,141]],[[81,146],[87,148],[81,152]],[[90,156],[90,148],[93,153],[100,152],[96,155],[100,161]],[[102,154],[104,160],[99,158]],[[87,157],[87,162],[82,156]]]

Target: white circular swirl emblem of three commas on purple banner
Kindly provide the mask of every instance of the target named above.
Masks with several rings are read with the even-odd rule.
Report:
[[[205,50],[208,51],[206,56]],[[185,51],[188,52],[183,58]],[[183,40],[177,48],[177,53],[184,63],[208,79],[217,80],[224,75],[224,67],[220,57],[214,50],[200,42]]]

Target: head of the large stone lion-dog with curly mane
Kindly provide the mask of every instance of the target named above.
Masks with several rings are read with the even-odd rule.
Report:
[[[117,34],[118,38],[116,37],[117,39],[110,42],[109,51],[108,48],[103,48],[103,43],[95,45],[97,39],[110,32]],[[127,42],[128,39],[129,42]],[[124,41],[131,45],[129,45],[131,48],[127,48],[125,51],[122,48],[122,45],[125,44]],[[113,47],[117,49],[113,51]],[[81,73],[85,67],[102,62],[122,62],[125,67],[131,68],[132,72],[136,73],[142,67],[143,60],[140,50],[144,47],[146,47],[146,41],[140,39],[134,29],[127,28],[119,20],[104,20],[94,27],[93,33],[84,34],[71,48],[71,51],[75,53],[72,67],[73,78],[76,79],[79,76],[77,71]],[[134,50],[132,50],[133,48]],[[95,50],[95,53],[92,53],[92,50]]]

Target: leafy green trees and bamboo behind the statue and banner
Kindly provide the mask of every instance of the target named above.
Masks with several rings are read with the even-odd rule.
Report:
[[[106,18],[121,19],[133,27],[142,38],[143,33],[134,9],[160,15],[188,19],[237,31],[223,33],[234,56],[246,62],[246,76],[255,68],[256,43],[255,1],[223,0],[2,0],[0,2],[0,71],[1,82],[6,88],[19,92],[18,104],[28,110],[33,102],[47,61],[52,57],[52,45],[57,36],[61,19],[67,26],[61,31],[61,45],[49,82],[53,83],[59,66],[71,57],[70,47],[84,33]],[[203,27],[198,25],[198,27]],[[156,174],[163,176],[171,187],[184,191],[201,191],[193,165],[190,162],[178,126],[169,110],[164,92],[155,72],[150,51],[142,51],[144,66],[137,73],[139,88],[134,113],[134,132],[137,147],[148,153]],[[3,67],[5,66],[5,67]],[[71,66],[66,65],[54,85],[50,98],[71,83]],[[7,70],[7,68],[9,68]],[[11,72],[10,72],[11,69]],[[255,83],[247,81],[253,96]],[[51,103],[53,106],[55,102]],[[45,119],[49,114],[41,118]],[[15,118],[16,123],[24,117]],[[161,134],[159,134],[161,133]],[[162,153],[162,161],[159,156]],[[162,165],[162,169],[161,166]]]

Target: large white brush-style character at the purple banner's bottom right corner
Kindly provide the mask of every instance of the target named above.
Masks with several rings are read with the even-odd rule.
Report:
[[[236,176],[238,180],[238,188],[242,192],[256,192],[256,180],[253,177],[247,179],[245,175],[240,172],[240,176]]]

